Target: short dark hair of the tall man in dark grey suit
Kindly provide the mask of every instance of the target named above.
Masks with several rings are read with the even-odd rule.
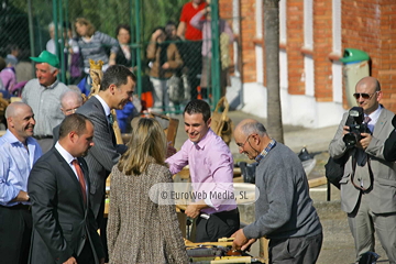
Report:
[[[136,82],[136,76],[129,68],[123,65],[112,65],[103,74],[100,90],[107,90],[110,85],[116,85],[117,87],[127,85],[128,77],[131,77]]]

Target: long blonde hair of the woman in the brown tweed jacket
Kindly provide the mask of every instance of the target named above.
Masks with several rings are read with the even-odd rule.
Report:
[[[166,138],[155,119],[142,118],[133,128],[128,151],[121,156],[118,169],[125,175],[141,175],[151,163],[165,165]]]

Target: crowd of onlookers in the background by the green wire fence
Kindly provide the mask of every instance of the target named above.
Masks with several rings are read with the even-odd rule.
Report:
[[[179,111],[190,98],[201,98],[210,101],[213,94],[211,88],[211,33],[210,8],[205,0],[191,0],[186,3],[178,23],[168,21],[165,25],[153,29],[143,56],[143,72],[151,82],[150,91],[153,97],[155,111]],[[204,11],[204,12],[202,12]],[[226,95],[229,80],[229,44],[233,41],[233,33],[226,20],[219,21],[220,38],[224,45],[221,50],[221,87],[220,97]],[[66,85],[77,85],[81,92],[89,95],[91,79],[89,77],[89,59],[102,61],[102,70],[114,64],[124,65],[132,72],[136,69],[136,53],[132,48],[131,29],[128,24],[119,24],[114,36],[106,34],[86,18],[65,21],[63,24],[48,24],[50,40],[45,51],[58,56],[58,73]],[[56,38],[56,40],[55,40]],[[224,47],[224,48],[223,48]],[[18,48],[12,50],[10,56],[18,57]],[[9,61],[11,62],[12,58]],[[12,61],[9,67],[14,66]],[[0,64],[1,70],[1,64]],[[10,68],[4,70],[4,75]],[[10,78],[10,77],[7,77]],[[0,75],[0,79],[2,79]],[[0,90],[14,92],[8,84]],[[16,84],[12,80],[13,85]],[[21,84],[18,88],[23,87]],[[170,97],[169,97],[170,94]],[[180,106],[182,105],[182,106]],[[127,110],[125,110],[127,111]],[[128,114],[128,113],[127,113]]]

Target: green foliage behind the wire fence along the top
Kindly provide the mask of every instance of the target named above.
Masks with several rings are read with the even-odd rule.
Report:
[[[70,23],[79,16],[86,18],[97,30],[116,36],[120,23],[135,26],[135,6],[139,1],[142,41],[147,41],[151,31],[165,25],[169,20],[178,22],[183,4],[188,0],[54,0],[62,3],[63,20]],[[53,0],[31,0],[35,26],[47,28],[53,21]],[[12,0],[12,6],[28,14],[28,0]],[[65,15],[67,14],[68,18]],[[59,15],[59,9],[58,9]],[[133,29],[136,32],[135,29]]]

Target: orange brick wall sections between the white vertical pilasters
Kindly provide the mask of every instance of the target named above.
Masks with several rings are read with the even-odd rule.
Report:
[[[263,0],[264,1],[264,0]],[[232,0],[219,0],[220,15],[230,18]],[[288,92],[304,95],[304,54],[315,62],[317,101],[332,101],[332,0],[314,1],[314,50],[304,46],[304,0],[287,0],[287,43],[282,48],[288,58]],[[342,48],[365,51],[371,57],[371,75],[378,78],[384,91],[382,103],[396,111],[396,2],[365,0],[341,2]],[[240,41],[243,82],[256,81],[256,59],[265,59],[263,40],[255,38],[255,0],[240,0]],[[263,15],[264,16],[264,15]],[[264,24],[263,24],[264,29]],[[263,32],[264,33],[264,32]],[[263,58],[256,58],[255,44],[263,46]],[[265,62],[265,61],[264,61]],[[264,63],[265,67],[265,63]],[[265,79],[265,77],[264,77]]]

